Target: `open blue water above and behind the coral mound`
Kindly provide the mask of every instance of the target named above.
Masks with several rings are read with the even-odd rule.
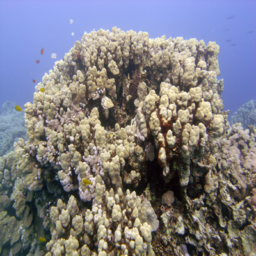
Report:
[[[256,1],[0,1],[0,108],[33,102],[35,84],[93,29],[216,41],[224,79],[224,110],[256,98]],[[232,19],[227,19],[234,15]],[[70,18],[74,19],[69,24]],[[228,31],[225,31],[229,29]],[[253,33],[248,33],[248,31]],[[74,32],[74,36],[72,36]],[[226,42],[226,40],[232,40]],[[231,45],[236,44],[236,45]],[[45,52],[41,56],[40,50]],[[36,63],[40,60],[40,63]]]

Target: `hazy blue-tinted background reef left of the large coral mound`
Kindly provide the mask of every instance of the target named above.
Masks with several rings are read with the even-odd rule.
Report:
[[[6,101],[0,110],[0,156],[13,150],[13,143],[19,138],[26,140],[24,112],[17,112],[15,103]]]

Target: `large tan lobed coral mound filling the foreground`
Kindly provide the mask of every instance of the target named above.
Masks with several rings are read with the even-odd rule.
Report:
[[[256,130],[228,125],[218,53],[117,28],[76,42],[0,157],[3,255],[255,255]]]

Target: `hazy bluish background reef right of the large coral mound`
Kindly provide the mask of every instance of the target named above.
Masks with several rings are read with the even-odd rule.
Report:
[[[256,100],[249,100],[230,117],[230,124],[236,123],[241,123],[244,129],[256,125]]]

